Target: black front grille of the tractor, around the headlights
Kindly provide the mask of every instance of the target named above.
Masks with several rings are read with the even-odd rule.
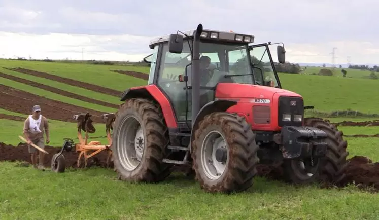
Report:
[[[301,122],[294,122],[294,115],[304,115],[304,101],[299,97],[280,96],[278,106],[278,124],[279,126],[302,126]],[[283,114],[291,114],[291,121],[283,121]],[[303,116],[304,118],[304,116]],[[302,118],[302,120],[303,120]]]

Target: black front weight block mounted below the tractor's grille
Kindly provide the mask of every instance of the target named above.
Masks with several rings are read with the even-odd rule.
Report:
[[[283,126],[281,148],[284,159],[320,158],[325,156],[327,134],[315,127]]]

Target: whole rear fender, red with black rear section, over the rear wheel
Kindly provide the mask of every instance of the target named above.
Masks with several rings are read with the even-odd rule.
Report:
[[[125,90],[121,94],[121,101],[125,101],[130,98],[146,98],[155,102],[158,102],[162,112],[166,125],[169,128],[177,128],[178,124],[175,120],[175,113],[171,107],[167,97],[160,91],[156,85],[138,86]]]

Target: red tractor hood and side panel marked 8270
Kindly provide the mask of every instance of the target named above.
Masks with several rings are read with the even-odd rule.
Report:
[[[244,116],[252,125],[253,130],[278,131],[278,100],[279,96],[301,97],[299,94],[274,87],[238,84],[219,83],[216,88],[216,99],[235,100],[238,104],[230,107],[227,112],[237,113]],[[269,99],[269,104],[253,103],[252,99]],[[302,97],[301,97],[302,98]],[[255,124],[253,120],[253,106],[270,106],[270,123]]]

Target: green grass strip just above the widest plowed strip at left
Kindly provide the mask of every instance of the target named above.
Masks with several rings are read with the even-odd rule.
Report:
[[[49,92],[49,91],[46,91],[43,89],[39,89],[37,87],[32,87],[32,86],[29,86],[29,85],[26,85],[23,83],[18,83],[18,82],[13,81],[13,80],[8,80],[8,79],[5,79],[3,77],[0,77],[0,84],[10,86],[10,87],[14,87],[14,88],[17,88],[19,90],[22,90],[25,92],[30,92],[30,93],[33,93],[33,94],[36,94],[39,96],[43,96],[45,98],[58,100],[61,102],[70,103],[73,105],[77,105],[77,106],[81,106],[81,107],[85,107],[85,108],[89,108],[89,109],[94,109],[97,111],[103,111],[103,112],[114,112],[115,111],[115,108],[110,108],[110,107],[106,107],[106,106],[102,106],[102,105],[93,104],[93,103],[81,101],[78,99],[70,98],[67,96],[59,95],[59,94],[52,93],[52,92]]]

